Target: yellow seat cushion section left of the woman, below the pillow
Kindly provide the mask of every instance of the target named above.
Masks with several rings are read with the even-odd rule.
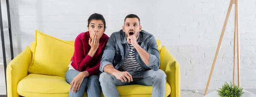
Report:
[[[68,97],[69,89],[65,78],[40,74],[29,74],[17,86],[18,94],[24,97]]]

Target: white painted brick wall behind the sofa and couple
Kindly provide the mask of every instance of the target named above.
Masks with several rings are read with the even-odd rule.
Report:
[[[137,14],[146,30],[180,63],[181,89],[205,89],[230,0],[11,0],[14,53],[34,41],[35,30],[63,40],[87,31],[87,18],[100,13],[106,34],[120,30]],[[256,89],[256,1],[239,0],[241,86]],[[234,7],[209,89],[232,80]]]

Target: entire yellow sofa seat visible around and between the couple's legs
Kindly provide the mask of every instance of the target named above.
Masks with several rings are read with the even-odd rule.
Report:
[[[29,74],[20,80],[17,86],[18,94],[23,97],[68,97],[69,89],[70,84],[65,78],[40,74]],[[146,97],[151,95],[152,86],[117,86],[117,90],[121,97]],[[166,97],[170,93],[170,85],[166,82]]]

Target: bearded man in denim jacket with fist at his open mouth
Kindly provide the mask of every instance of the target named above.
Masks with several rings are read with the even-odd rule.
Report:
[[[125,17],[122,30],[112,33],[102,55],[99,81],[105,97],[119,97],[116,86],[153,86],[152,97],[164,97],[166,74],[160,70],[160,53],[154,36],[141,30],[140,18]],[[142,80],[134,77],[142,76]]]

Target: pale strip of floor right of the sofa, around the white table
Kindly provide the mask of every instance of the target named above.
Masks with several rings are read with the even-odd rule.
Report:
[[[252,92],[253,94],[256,94],[256,89],[246,89],[246,90]],[[180,91],[181,92],[180,97],[204,97],[204,90],[198,90],[198,91],[199,92],[196,94],[194,92],[190,92],[190,91]],[[212,91],[214,91],[214,90],[208,90],[207,94],[211,93]]]

